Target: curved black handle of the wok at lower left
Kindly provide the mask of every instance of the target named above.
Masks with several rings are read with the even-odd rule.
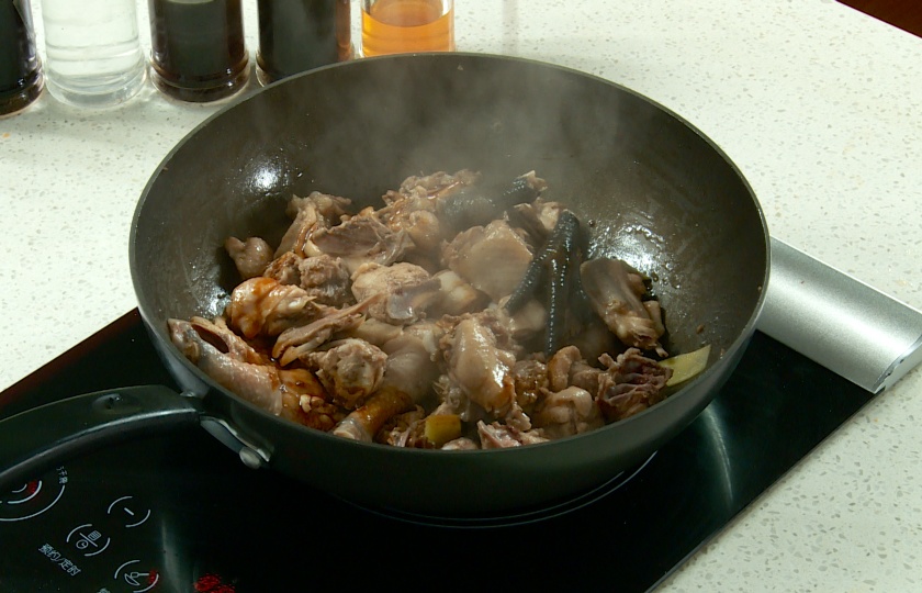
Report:
[[[99,391],[0,421],[0,494],[78,455],[199,424],[201,401],[164,385]]]

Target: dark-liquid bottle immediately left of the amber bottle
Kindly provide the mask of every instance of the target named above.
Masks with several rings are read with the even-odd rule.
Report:
[[[351,56],[349,0],[258,0],[263,85]]]

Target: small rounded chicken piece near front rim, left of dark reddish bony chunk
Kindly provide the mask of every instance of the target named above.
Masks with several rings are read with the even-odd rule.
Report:
[[[531,422],[549,439],[578,435],[605,425],[594,395],[577,387],[548,392],[531,414]]]

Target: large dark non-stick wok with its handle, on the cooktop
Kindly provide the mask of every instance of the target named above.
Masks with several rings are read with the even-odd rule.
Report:
[[[170,343],[168,318],[222,312],[238,281],[224,239],[278,240],[292,193],[319,190],[380,205],[406,176],[461,168],[486,180],[537,170],[549,199],[565,202],[589,228],[591,255],[622,258],[654,278],[668,349],[712,346],[707,370],[664,402],[592,433],[513,449],[434,451],[351,441],[279,419],[214,383]],[[0,486],[61,456],[201,424],[247,465],[349,501],[466,516],[586,491],[688,425],[754,331],[768,237],[738,168],[649,99],[524,59],[404,55],[306,72],[204,122],[145,188],[131,268],[144,323],[184,392],[119,389],[4,421]]]

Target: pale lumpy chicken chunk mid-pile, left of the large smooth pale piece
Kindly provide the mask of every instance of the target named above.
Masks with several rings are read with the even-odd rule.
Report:
[[[393,325],[418,321],[440,288],[429,272],[405,261],[391,266],[366,264],[352,275],[352,294],[357,300],[378,299],[369,307],[369,316]]]

